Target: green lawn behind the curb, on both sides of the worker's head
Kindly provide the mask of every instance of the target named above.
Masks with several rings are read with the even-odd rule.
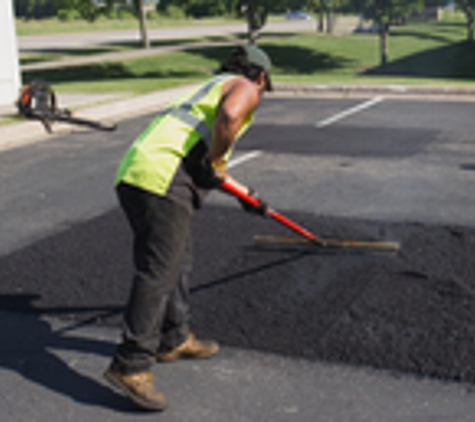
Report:
[[[274,62],[273,80],[306,84],[443,84],[475,82],[475,44],[463,22],[395,27],[389,63],[379,66],[376,35],[263,34],[259,45]],[[147,93],[195,83],[212,74],[230,47],[208,47],[121,62],[24,72],[59,91]]]

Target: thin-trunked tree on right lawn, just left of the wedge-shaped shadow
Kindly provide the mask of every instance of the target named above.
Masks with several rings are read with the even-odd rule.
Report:
[[[474,1],[474,0],[472,0]],[[376,24],[380,39],[381,66],[388,61],[389,28],[406,19],[411,12],[421,10],[422,0],[354,0],[355,9]]]

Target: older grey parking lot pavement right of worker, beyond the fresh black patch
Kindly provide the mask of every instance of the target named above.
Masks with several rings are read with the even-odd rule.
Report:
[[[260,189],[280,207],[473,225],[467,211],[473,207],[474,108],[390,99],[279,100],[262,110],[240,147],[265,153],[258,177],[269,186]],[[271,186],[275,172],[285,175],[287,189]]]

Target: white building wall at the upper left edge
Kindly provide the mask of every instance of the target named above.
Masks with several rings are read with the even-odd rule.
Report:
[[[13,1],[0,0],[0,105],[10,105],[21,86]]]

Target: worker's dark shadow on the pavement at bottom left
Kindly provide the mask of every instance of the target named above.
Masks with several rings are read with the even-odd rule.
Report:
[[[75,358],[77,352],[110,357],[114,345],[71,334],[65,336],[61,331],[54,331],[48,322],[41,319],[38,309],[32,304],[37,299],[38,295],[0,295],[0,367],[15,371],[27,380],[85,405],[136,411],[123,397],[79,373],[61,357],[62,353],[70,352]],[[12,310],[17,312],[13,313]],[[18,313],[19,310],[21,313]],[[97,368],[98,378],[102,377],[103,370],[102,367]],[[15,386],[6,388],[11,391]],[[14,396],[19,405],[22,395]],[[26,399],[27,396],[26,406],[31,404],[31,398]]]

